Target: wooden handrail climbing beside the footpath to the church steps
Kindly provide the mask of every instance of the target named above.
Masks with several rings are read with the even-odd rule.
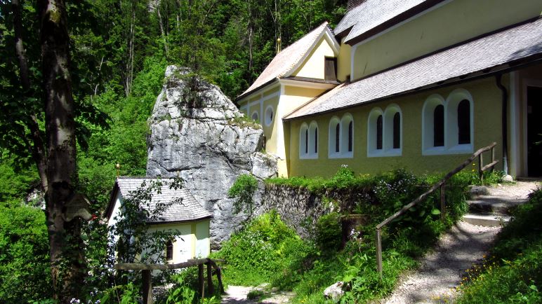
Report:
[[[444,175],[444,177],[440,181],[438,181],[431,188],[429,188],[428,191],[425,191],[425,193],[418,196],[418,198],[416,198],[416,200],[413,200],[412,202],[409,202],[408,205],[405,205],[404,207],[399,209],[398,212],[395,212],[395,214],[388,217],[388,219],[385,219],[384,221],[382,221],[381,223],[376,225],[376,269],[378,270],[381,279],[382,279],[382,241],[381,241],[382,235],[381,235],[381,229],[384,226],[388,225],[388,223],[390,223],[390,221],[393,221],[394,219],[397,219],[397,217],[404,214],[411,207],[414,207],[419,202],[422,202],[423,200],[425,200],[425,198],[427,198],[433,192],[437,191],[437,189],[439,189],[439,188],[441,190],[440,191],[440,206],[441,206],[440,207],[440,209],[441,209],[440,214],[441,214],[441,219],[444,220],[444,215],[445,215],[445,211],[446,211],[445,210],[446,204],[444,202],[444,188],[445,188],[446,182],[449,179],[451,179],[451,177],[453,177],[456,173],[460,172],[465,167],[467,167],[470,163],[472,163],[472,161],[475,160],[475,158],[477,158],[477,157],[480,158],[479,159],[480,164],[478,165],[478,168],[479,168],[480,179],[482,180],[483,172],[486,171],[486,170],[489,170],[490,168],[495,167],[495,165],[498,163],[498,160],[495,160],[495,152],[494,152],[494,148],[495,148],[496,145],[497,145],[497,143],[494,142],[493,144],[490,144],[489,146],[478,149],[475,153],[472,154],[472,156],[470,156],[470,158],[465,160],[461,165],[458,165],[458,167],[456,167],[454,170],[451,170],[450,172],[448,172],[448,174]],[[484,153],[486,151],[489,151],[489,150],[491,150],[491,163],[489,163],[488,165],[485,165],[485,166],[482,167],[482,153]]]

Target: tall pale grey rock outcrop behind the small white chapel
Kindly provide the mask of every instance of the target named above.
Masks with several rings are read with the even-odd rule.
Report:
[[[185,187],[214,214],[211,247],[216,248],[244,219],[232,214],[234,200],[227,191],[239,174],[277,176],[277,160],[259,152],[261,127],[242,121],[243,114],[216,85],[187,74],[166,69],[149,119],[147,176],[185,179]]]

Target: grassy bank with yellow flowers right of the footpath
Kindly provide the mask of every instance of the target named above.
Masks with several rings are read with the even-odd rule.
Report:
[[[542,189],[514,212],[491,256],[467,270],[458,303],[542,302]]]

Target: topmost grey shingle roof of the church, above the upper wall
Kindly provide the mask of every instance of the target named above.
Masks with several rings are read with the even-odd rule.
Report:
[[[366,0],[346,13],[333,29],[338,35],[353,26],[346,42],[408,11],[425,0]]]

